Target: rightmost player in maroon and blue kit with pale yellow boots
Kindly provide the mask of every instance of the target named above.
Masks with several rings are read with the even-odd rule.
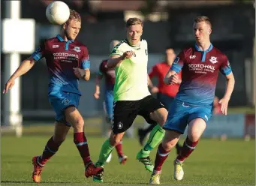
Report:
[[[230,63],[227,56],[215,46],[212,46],[210,42],[209,36],[212,33],[212,24],[208,17],[197,17],[194,20],[193,28],[195,45],[183,49],[179,53],[170,71],[164,77],[164,83],[172,84],[173,77],[182,70],[182,83],[175,100],[170,105],[167,121],[164,124],[166,133],[158,146],[150,184],[160,184],[161,166],[188,124],[188,136],[180,154],[174,160],[174,178],[182,180],[184,175],[183,161],[196,148],[197,142],[212,116],[219,71],[227,80],[226,92],[219,101],[221,113],[227,115],[228,102],[235,84]]]

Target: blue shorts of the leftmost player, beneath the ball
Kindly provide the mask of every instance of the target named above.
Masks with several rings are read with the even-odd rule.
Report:
[[[48,94],[48,99],[56,113],[55,120],[71,127],[71,124],[65,120],[64,110],[71,106],[77,108],[80,101],[80,95],[71,92],[50,92]]]

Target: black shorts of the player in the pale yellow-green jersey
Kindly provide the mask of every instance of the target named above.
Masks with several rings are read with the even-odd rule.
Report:
[[[113,104],[113,133],[122,133],[131,127],[137,115],[143,116],[149,124],[156,124],[150,118],[150,113],[164,108],[164,105],[152,95],[138,101],[114,101]]]

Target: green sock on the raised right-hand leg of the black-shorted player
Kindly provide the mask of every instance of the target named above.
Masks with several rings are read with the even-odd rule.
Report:
[[[149,156],[150,151],[152,151],[152,149],[155,148],[158,145],[158,143],[161,142],[161,140],[163,139],[164,133],[165,130],[159,124],[157,124],[153,128],[149,135],[149,139],[146,142],[146,145],[141,150],[143,156]]]

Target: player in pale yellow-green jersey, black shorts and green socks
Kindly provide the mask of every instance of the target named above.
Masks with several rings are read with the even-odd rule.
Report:
[[[150,133],[146,145],[137,154],[137,160],[152,172],[153,165],[149,153],[161,142],[167,110],[160,101],[149,93],[148,89],[148,46],[140,37],[143,22],[130,18],[126,23],[127,38],[122,40],[110,54],[108,68],[115,68],[116,83],[114,88],[113,126],[110,139],[101,148],[96,166],[103,166],[113,148],[121,141],[125,130],[131,127],[137,115],[143,116],[149,124],[156,124]],[[102,175],[95,175],[94,181],[103,181]]]

